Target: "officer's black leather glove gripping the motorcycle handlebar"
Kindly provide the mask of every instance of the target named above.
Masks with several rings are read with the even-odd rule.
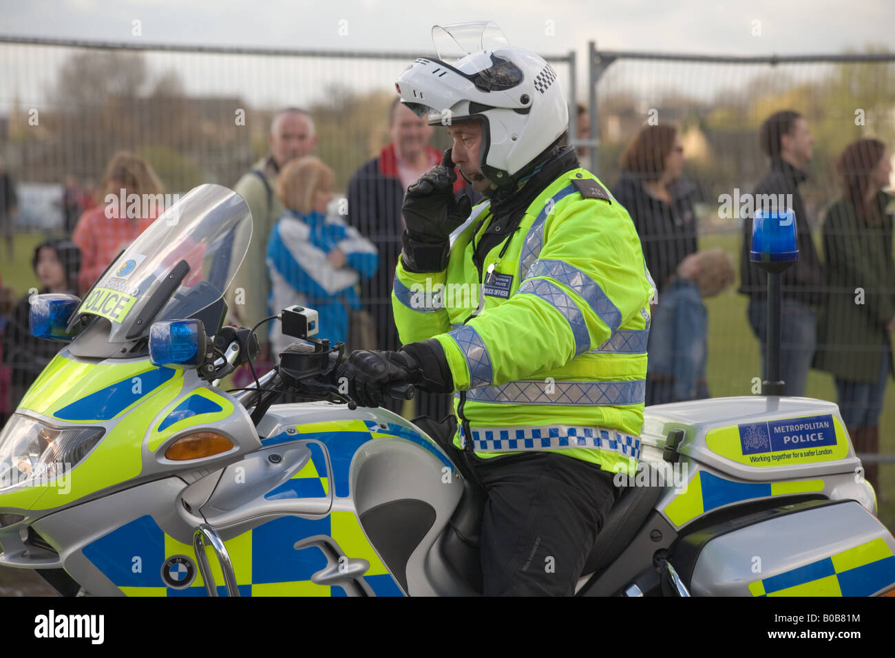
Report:
[[[338,365],[336,376],[348,381],[348,396],[360,406],[382,406],[395,383],[409,382],[433,393],[454,390],[444,350],[434,339],[405,345],[398,352],[355,350]]]

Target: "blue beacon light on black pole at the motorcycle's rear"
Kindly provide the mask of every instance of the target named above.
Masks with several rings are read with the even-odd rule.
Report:
[[[784,395],[780,379],[780,275],[798,261],[796,214],[791,209],[755,210],[749,260],[768,273],[768,344],[762,395]]]

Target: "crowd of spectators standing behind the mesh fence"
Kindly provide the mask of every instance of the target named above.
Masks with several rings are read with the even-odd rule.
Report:
[[[251,326],[298,303],[320,312],[323,338],[343,341],[349,348],[400,346],[391,289],[404,229],[401,205],[407,187],[439,164],[442,155],[430,147],[432,128],[397,98],[383,118],[390,141],[354,171],[347,198],[337,200],[332,168],[314,155],[318,136],[311,115],[288,107],[274,116],[268,154],[234,185],[253,222],[248,254],[227,291],[234,322]],[[586,139],[584,107],[578,107],[573,120]],[[823,213],[822,259],[799,193],[813,157],[810,126],[795,111],[777,112],[763,122],[757,138],[768,166],[753,196],[786,199],[797,224],[799,260],[782,275],[780,365],[786,393],[804,395],[812,367],[830,372],[858,451],[875,452],[882,397],[895,373],[891,196],[883,191],[891,176],[889,153],[872,139],[856,141],[841,153],[835,163],[841,195]],[[586,147],[578,154],[586,156]],[[651,303],[647,405],[709,397],[703,300],[736,279],[725,252],[699,247],[698,182],[683,173],[686,156],[675,126],[644,125],[627,144],[621,175],[611,185],[613,201],[635,223],[657,293]],[[112,158],[98,189],[118,198],[163,192],[149,163],[127,152]],[[473,205],[480,201],[459,174],[455,193],[468,195]],[[158,215],[132,217],[116,203],[96,201],[73,176],[66,176],[60,208],[70,239],[48,241],[35,250],[32,266],[40,290],[83,295]],[[13,178],[0,161],[0,232],[10,257],[17,205]],[[738,292],[748,297],[744,320],[764,353],[766,275],[749,260],[751,225],[751,217],[746,218]],[[7,305],[11,308],[0,308],[5,368],[0,371],[0,413],[14,408],[57,347],[30,337],[27,296]],[[260,332],[259,339],[263,371],[276,361],[287,339],[277,323]],[[448,396],[422,395],[417,404],[419,414],[441,418],[452,403]],[[867,467],[867,475],[874,482],[875,466]]]

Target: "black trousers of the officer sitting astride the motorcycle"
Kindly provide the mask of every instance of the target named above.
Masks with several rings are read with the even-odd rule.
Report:
[[[613,474],[535,452],[474,457],[488,491],[482,517],[486,596],[571,596],[615,502]]]

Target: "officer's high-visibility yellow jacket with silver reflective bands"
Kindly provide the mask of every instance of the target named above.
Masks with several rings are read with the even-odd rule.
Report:
[[[455,445],[471,433],[479,457],[558,450],[635,474],[654,286],[634,223],[575,168],[544,188],[480,272],[473,252],[489,205],[451,235],[447,269],[399,262],[392,292],[402,342],[437,339],[465,391]]]

